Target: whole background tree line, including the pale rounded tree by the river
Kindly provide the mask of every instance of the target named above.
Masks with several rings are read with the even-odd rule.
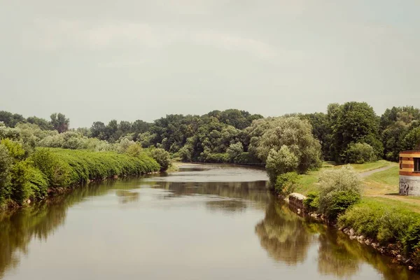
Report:
[[[393,107],[377,116],[365,102],[329,104],[326,112],[269,118],[228,109],[202,116],[167,115],[153,123],[97,121],[90,128],[77,129],[69,125],[62,113],[45,120],[0,111],[0,140],[22,146],[24,158],[40,147],[137,155],[144,149],[162,169],[169,166],[169,153],[185,162],[263,165],[273,185],[280,174],[302,174],[320,167],[322,160],[397,161],[400,151],[420,148],[419,109]],[[14,153],[12,146],[7,146],[9,153]],[[285,178],[290,179],[280,178],[280,184]]]

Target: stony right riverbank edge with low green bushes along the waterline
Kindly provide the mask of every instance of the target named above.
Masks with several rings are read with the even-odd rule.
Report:
[[[356,239],[360,244],[391,257],[394,263],[420,271],[419,214],[401,205],[395,207],[374,197],[363,197],[334,221],[307,209],[304,203],[306,199],[300,193],[292,193],[285,198],[296,214],[332,226],[350,239]]]

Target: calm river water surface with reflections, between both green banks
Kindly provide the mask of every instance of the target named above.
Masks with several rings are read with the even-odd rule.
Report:
[[[310,223],[259,169],[189,165],[0,216],[0,279],[420,279]]]

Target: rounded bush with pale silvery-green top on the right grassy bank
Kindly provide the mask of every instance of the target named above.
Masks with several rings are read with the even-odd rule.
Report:
[[[323,172],[320,177],[319,210],[329,219],[355,204],[361,197],[361,182],[351,167]]]

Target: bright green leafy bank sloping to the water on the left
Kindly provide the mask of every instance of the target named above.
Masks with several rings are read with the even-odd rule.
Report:
[[[0,192],[0,205],[23,205],[55,193],[116,176],[159,172],[161,166],[146,153],[131,156],[62,148],[36,148],[29,158],[15,160]]]

